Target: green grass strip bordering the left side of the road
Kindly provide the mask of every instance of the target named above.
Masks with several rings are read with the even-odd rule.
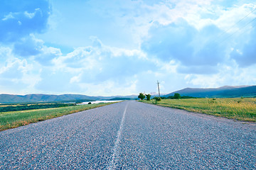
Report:
[[[62,115],[68,115],[91,108],[106,106],[111,103],[98,103],[90,105],[67,106],[61,108],[44,108],[27,111],[11,111],[0,113],[0,131],[9,128],[17,128],[18,126],[36,123],[38,121],[57,118]]]

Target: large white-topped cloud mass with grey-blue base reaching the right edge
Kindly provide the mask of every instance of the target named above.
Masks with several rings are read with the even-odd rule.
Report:
[[[141,48],[163,62],[175,61],[181,74],[216,74],[230,59],[240,67],[255,64],[255,4],[237,3],[223,8],[213,1],[179,1],[164,11],[166,21],[152,24]],[[174,13],[178,9],[181,15]]]

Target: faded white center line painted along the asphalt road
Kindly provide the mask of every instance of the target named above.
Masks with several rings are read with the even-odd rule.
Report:
[[[119,142],[120,142],[120,138],[121,138],[122,128],[124,126],[124,118],[125,118],[125,113],[127,111],[127,106],[128,106],[128,103],[124,108],[124,114],[122,116],[120,128],[117,132],[117,140],[114,142],[114,149],[113,149],[112,159],[111,159],[110,165],[107,169],[116,169],[116,166],[117,166],[116,164],[119,161],[119,152],[118,152],[117,148],[119,147]]]

